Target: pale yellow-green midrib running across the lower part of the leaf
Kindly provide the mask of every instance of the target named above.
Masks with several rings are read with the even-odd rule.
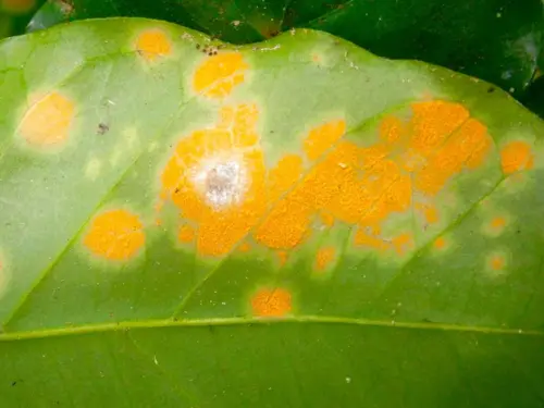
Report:
[[[220,319],[157,319],[144,321],[122,321],[116,323],[85,324],[75,327],[32,330],[0,334],[0,342],[13,342],[24,339],[39,339],[49,337],[64,337],[84,334],[99,334],[129,330],[149,330],[166,327],[199,327],[199,326],[236,326],[254,324],[344,324],[351,326],[388,327],[401,330],[419,331],[443,331],[458,333],[480,333],[490,335],[518,335],[518,336],[537,336],[544,337],[544,331],[523,330],[523,329],[503,329],[496,326],[459,325],[447,323],[428,323],[428,322],[400,322],[394,320],[372,320],[342,318],[333,316],[297,316],[288,318],[220,318]]]

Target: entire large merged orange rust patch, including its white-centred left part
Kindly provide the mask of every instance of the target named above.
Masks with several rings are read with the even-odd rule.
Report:
[[[481,166],[492,146],[485,126],[458,103],[418,102],[412,111],[407,123],[385,116],[379,139],[363,147],[343,139],[344,120],[327,121],[302,141],[309,166],[287,153],[267,170],[257,106],[224,106],[214,126],[177,144],[162,185],[182,217],[198,224],[202,255],[225,255],[248,234],[288,252],[309,239],[314,225],[342,222],[357,227],[357,246],[404,256],[415,248],[413,234],[385,236],[384,223],[413,209],[426,224],[440,222],[435,196],[462,170]],[[207,195],[230,186],[222,178],[228,171],[237,196],[213,205]]]

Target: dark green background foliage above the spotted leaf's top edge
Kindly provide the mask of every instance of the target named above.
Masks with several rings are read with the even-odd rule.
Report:
[[[232,44],[321,29],[487,81],[544,114],[543,0],[0,0],[0,37],[110,16],[165,20]]]

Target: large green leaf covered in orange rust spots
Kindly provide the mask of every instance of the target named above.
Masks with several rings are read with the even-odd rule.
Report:
[[[311,29],[0,42],[7,407],[541,407],[540,119]]]

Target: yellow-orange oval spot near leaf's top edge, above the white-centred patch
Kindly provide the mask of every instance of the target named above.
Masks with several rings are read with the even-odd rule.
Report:
[[[196,70],[193,88],[208,98],[224,98],[245,79],[249,65],[239,52],[221,52],[207,58]]]

